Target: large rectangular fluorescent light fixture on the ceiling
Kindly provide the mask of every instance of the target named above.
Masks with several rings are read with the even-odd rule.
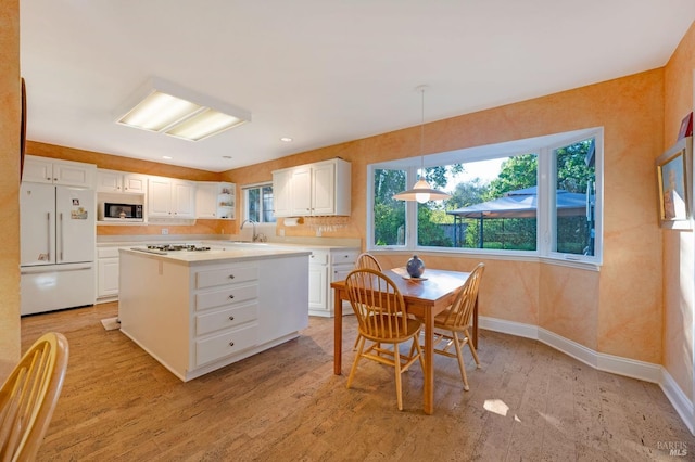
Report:
[[[251,120],[251,113],[151,78],[122,106],[116,123],[188,141],[201,141]]]

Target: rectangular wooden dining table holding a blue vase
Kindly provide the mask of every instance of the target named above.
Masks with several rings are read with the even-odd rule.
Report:
[[[401,291],[408,313],[421,319],[425,324],[425,387],[424,401],[425,413],[434,412],[434,317],[446,309],[458,291],[464,286],[470,275],[469,272],[427,269],[418,280],[410,279],[405,268],[386,270],[389,277]],[[331,283],[334,296],[334,356],[333,373],[342,373],[342,343],[343,343],[343,300],[348,300],[345,281]],[[473,332],[471,334],[473,346],[478,345],[478,303],[473,312]]]

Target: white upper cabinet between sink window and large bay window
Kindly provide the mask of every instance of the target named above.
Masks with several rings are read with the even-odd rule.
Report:
[[[334,158],[274,171],[275,216],[350,215],[350,170]]]

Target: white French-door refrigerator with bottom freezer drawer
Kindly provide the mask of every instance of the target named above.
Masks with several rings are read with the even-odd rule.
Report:
[[[21,313],[93,305],[94,191],[24,182],[20,193]]]

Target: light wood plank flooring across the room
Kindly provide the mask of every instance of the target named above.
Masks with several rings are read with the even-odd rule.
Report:
[[[116,304],[23,318],[26,349],[63,332],[70,365],[40,461],[652,461],[695,460],[690,434],[657,385],[593,370],[539,342],[481,331],[470,392],[455,359],[435,358],[435,413],[422,372],[363,361],[353,388],[354,317],[343,375],[332,320],[298,339],[182,383],[101,319]],[[685,458],[669,457],[669,445]]]

